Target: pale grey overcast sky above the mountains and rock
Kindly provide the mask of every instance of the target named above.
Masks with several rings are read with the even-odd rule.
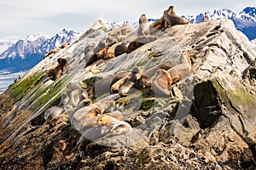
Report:
[[[0,0],[0,42],[31,34],[55,35],[63,28],[86,31],[96,20],[137,21],[141,14],[160,18],[174,5],[178,15],[229,8],[238,13],[255,0]]]

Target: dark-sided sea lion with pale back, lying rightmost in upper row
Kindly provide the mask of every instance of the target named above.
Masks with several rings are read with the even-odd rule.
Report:
[[[130,53],[131,51],[142,47],[144,44],[148,42],[153,42],[157,39],[155,36],[141,36],[137,37],[133,42],[130,42],[127,48],[127,53]]]

